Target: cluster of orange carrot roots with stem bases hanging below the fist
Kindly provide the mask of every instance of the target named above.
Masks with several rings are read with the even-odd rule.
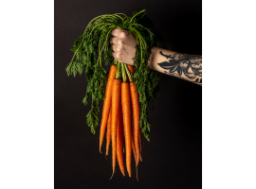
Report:
[[[110,67],[107,79],[101,119],[100,152],[106,129],[106,155],[108,155],[110,142],[112,141],[113,174],[111,178],[115,172],[117,158],[120,171],[125,176],[124,151],[126,153],[126,169],[129,177],[132,174],[132,149],[136,167],[139,159],[142,162],[139,102],[133,80],[134,73],[132,65],[115,60],[115,63]],[[123,137],[125,139],[125,150]]]

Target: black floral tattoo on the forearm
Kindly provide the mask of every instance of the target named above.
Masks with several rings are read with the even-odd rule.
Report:
[[[181,77],[194,83],[203,84],[203,56],[175,53],[174,55],[160,55],[169,61],[157,63],[161,68],[169,70],[165,74]]]

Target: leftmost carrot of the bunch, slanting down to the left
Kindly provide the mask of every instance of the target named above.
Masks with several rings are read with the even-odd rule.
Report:
[[[102,119],[101,119],[100,152],[101,152],[101,145],[102,145],[102,142],[104,139],[109,110],[111,107],[112,82],[113,82],[113,79],[116,77],[116,68],[117,68],[116,65],[112,65],[110,67],[110,71],[109,71],[109,75],[108,75],[108,79],[107,79],[105,99],[104,99],[103,110],[102,110]]]

